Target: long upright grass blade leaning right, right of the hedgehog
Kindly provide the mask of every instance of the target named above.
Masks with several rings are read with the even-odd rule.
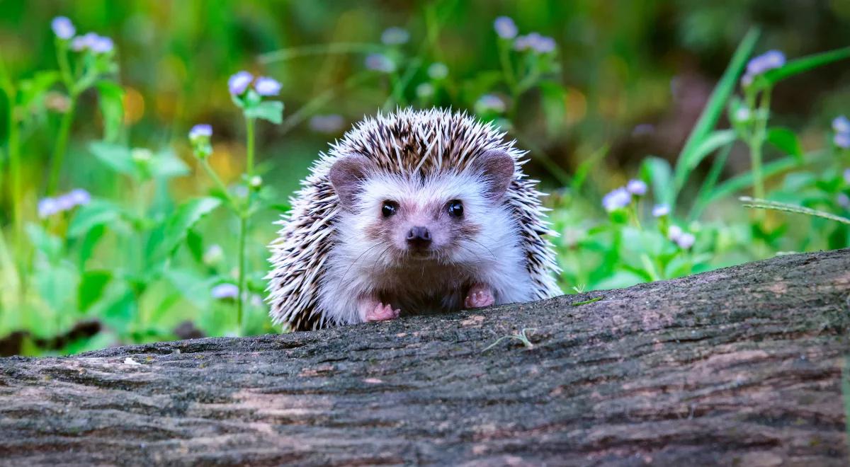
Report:
[[[723,76],[720,78],[720,82],[717,82],[717,86],[711,93],[711,98],[708,99],[706,108],[702,110],[700,119],[696,122],[688,140],[685,142],[682,152],[679,153],[676,162],[675,184],[667,192],[667,197],[662,200],[670,205],[671,209],[675,207],[679,190],[682,189],[688,180],[690,175],[689,167],[696,166],[693,160],[697,156],[697,149],[699,149],[700,144],[708,138],[711,130],[717,125],[717,120],[723,113],[723,108],[726,106],[729,96],[732,95],[738,83],[738,77],[741,71],[744,70],[747,58],[750,57],[752,49],[756,46],[758,36],[759,31],[754,28],[747,32],[744,39],[740,42],[726,71],[723,72]]]

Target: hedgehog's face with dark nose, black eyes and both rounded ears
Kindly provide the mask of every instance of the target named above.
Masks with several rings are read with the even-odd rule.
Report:
[[[479,160],[464,172],[412,176],[373,170],[362,156],[337,161],[329,175],[346,223],[354,225],[349,238],[359,239],[364,252],[379,251],[385,265],[469,262],[486,243],[488,222],[502,214],[501,197],[513,177],[509,155]]]

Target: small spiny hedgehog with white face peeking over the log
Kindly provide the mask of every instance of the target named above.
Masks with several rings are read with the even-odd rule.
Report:
[[[560,295],[526,151],[466,112],[366,117],[320,153],[271,250],[275,324],[321,329]]]

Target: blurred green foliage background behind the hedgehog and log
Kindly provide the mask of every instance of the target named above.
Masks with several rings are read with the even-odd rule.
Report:
[[[841,222],[734,198],[847,217],[850,156],[830,128],[850,114],[847,2],[0,0],[0,10],[16,102],[0,97],[0,337],[31,333],[16,352],[171,339],[186,322],[203,335],[273,330],[258,301],[272,222],[328,141],[396,106],[473,111],[530,149],[526,171],[552,194],[566,292],[850,245]],[[115,42],[108,61],[71,53],[94,60],[72,70],[97,70],[78,95],[88,75],[69,81],[57,60],[58,15]],[[494,31],[502,15],[555,50],[513,50]],[[747,60],[768,49],[788,65],[741,87]],[[279,125],[275,108],[247,132],[228,93],[238,70],[282,83]],[[214,128],[206,160],[186,138],[200,122]],[[630,178],[649,194],[606,212],[603,194]],[[72,188],[93,199],[38,218],[38,200]],[[654,217],[660,203],[672,213]],[[679,242],[676,229],[694,238]],[[211,290],[243,283],[237,322],[234,302]],[[45,348],[90,318],[101,332]]]

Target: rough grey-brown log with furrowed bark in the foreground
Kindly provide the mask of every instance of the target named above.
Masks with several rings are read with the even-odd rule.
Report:
[[[390,323],[4,358],[0,463],[845,465],[848,294],[836,250]],[[533,348],[484,351],[524,328]]]

